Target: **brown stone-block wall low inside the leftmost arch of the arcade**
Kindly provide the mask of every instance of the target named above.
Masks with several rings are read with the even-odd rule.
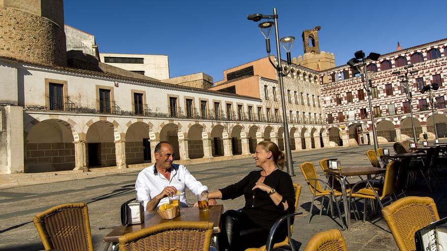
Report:
[[[26,172],[51,172],[75,168],[73,143],[28,143]]]

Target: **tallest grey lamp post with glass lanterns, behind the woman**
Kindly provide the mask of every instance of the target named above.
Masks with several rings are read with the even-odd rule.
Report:
[[[292,64],[292,59],[290,55],[290,50],[292,49],[293,43],[295,41],[294,37],[284,37],[281,40],[279,40],[279,32],[278,32],[278,14],[276,13],[276,8],[273,8],[273,15],[263,15],[263,14],[252,14],[247,16],[248,20],[252,20],[254,22],[261,21],[262,19],[273,19],[272,21],[266,21],[260,23],[259,29],[261,30],[261,33],[264,35],[266,39],[266,50],[267,55],[269,58],[270,63],[273,65],[273,67],[278,72],[278,81],[279,81],[279,88],[281,91],[281,103],[282,103],[282,126],[284,127],[284,141],[285,141],[285,157],[286,157],[286,166],[287,166],[287,173],[291,176],[295,176],[294,169],[293,169],[293,163],[292,163],[292,151],[290,147],[290,135],[289,135],[289,126],[287,124],[287,113],[285,111],[285,98],[284,98],[284,87],[282,83],[282,77],[287,76],[290,73]],[[272,33],[273,26],[275,26],[275,37],[276,37],[276,54],[277,54],[277,60],[278,64],[272,62],[270,59],[270,34]],[[289,65],[289,69],[286,73],[283,73],[282,71],[282,64],[281,64],[281,52],[279,48],[279,42],[281,43],[284,50],[287,52],[287,64]]]

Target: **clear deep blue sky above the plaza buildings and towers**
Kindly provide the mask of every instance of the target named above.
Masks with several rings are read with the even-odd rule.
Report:
[[[168,55],[170,77],[223,70],[267,56],[258,23],[273,14],[279,37],[294,36],[292,57],[303,55],[301,34],[320,25],[320,50],[336,65],[354,52],[385,54],[447,38],[447,2],[426,1],[64,1],[65,23],[95,36],[100,53]],[[276,54],[272,34],[272,54]],[[281,48],[282,49],[282,48]],[[285,51],[281,51],[285,59]]]

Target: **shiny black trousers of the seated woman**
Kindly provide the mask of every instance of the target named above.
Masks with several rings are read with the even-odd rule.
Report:
[[[251,221],[244,212],[236,210],[223,213],[220,225],[219,251],[239,251],[249,247],[261,247],[266,244],[270,232]],[[284,237],[283,234],[277,235],[275,242],[284,240]]]

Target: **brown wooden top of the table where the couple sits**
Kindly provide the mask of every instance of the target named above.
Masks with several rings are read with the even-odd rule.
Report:
[[[133,233],[143,228],[170,221],[212,222],[214,223],[213,233],[219,233],[220,215],[222,214],[222,211],[223,205],[209,206],[209,211],[201,211],[199,210],[199,207],[181,207],[180,217],[176,217],[172,220],[165,220],[159,217],[156,211],[145,211],[144,223],[129,225],[127,227],[119,226],[104,236],[103,240],[104,242],[118,242],[118,238],[121,235]]]

